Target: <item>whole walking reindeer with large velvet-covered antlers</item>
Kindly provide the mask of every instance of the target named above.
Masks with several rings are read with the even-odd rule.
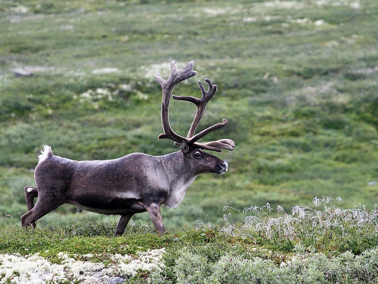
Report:
[[[166,138],[180,146],[180,151],[163,156],[132,153],[105,161],[74,161],[55,156],[51,147],[44,145],[39,162],[34,170],[36,187],[26,186],[25,198],[28,212],[21,216],[22,227],[36,226],[36,220],[68,203],[81,212],[87,210],[102,214],[121,215],[115,236],[124,233],[130,218],[140,212],[149,212],[153,225],[159,233],[165,231],[161,217],[162,204],[175,208],[184,198],[186,189],[201,173],[222,175],[228,164],[203,150],[222,151],[235,147],[231,139],[211,142],[197,142],[198,139],[218,128],[226,126],[227,120],[212,125],[194,135],[208,101],[217,91],[209,79],[205,91],[201,81],[198,85],[202,97],[175,96],[175,100],[191,101],[197,106],[192,125],[186,137],[176,134],[169,123],[169,102],[174,87],[197,74],[194,62],[177,71],[176,62],[171,63],[168,80],[159,73],[155,80],[161,85],[161,121],[164,133],[158,139]],[[34,206],[34,198],[37,202]]]

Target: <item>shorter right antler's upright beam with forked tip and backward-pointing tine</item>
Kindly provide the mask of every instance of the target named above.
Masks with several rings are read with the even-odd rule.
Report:
[[[175,96],[175,95],[172,96],[175,100],[191,101],[197,106],[197,112],[193,119],[192,125],[189,129],[189,132],[186,135],[186,138],[193,137],[195,130],[197,129],[198,123],[200,123],[203,112],[206,109],[206,105],[208,104],[209,100],[215,95],[215,92],[217,91],[217,88],[218,88],[217,85],[213,85],[208,78],[205,78],[204,80],[206,83],[208,83],[209,90],[205,91],[203,84],[201,83],[200,80],[198,80],[197,83],[198,83],[198,86],[200,86],[201,93],[202,93],[202,97],[200,99],[191,97],[191,96]],[[194,140],[194,142],[197,140]]]

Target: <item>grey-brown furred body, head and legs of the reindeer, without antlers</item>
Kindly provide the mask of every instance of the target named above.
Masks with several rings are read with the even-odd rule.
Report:
[[[34,172],[37,187],[25,187],[28,212],[22,226],[32,224],[68,203],[78,211],[121,215],[115,236],[121,235],[135,213],[148,211],[153,225],[164,232],[162,204],[174,208],[181,203],[187,187],[200,173],[222,175],[228,165],[186,142],[181,151],[164,156],[132,153],[106,161],[74,161],[52,154],[45,146]],[[33,199],[38,197],[33,206]]]

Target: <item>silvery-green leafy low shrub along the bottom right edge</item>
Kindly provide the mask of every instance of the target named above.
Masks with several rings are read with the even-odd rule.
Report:
[[[296,253],[280,264],[269,259],[245,259],[233,253],[211,263],[199,254],[181,250],[175,265],[174,283],[376,283],[378,250],[355,256],[349,251],[328,257],[296,247]],[[156,283],[172,283],[152,273]]]

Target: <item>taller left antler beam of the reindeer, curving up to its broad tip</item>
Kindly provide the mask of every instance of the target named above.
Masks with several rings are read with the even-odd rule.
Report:
[[[156,74],[155,81],[157,81],[162,89],[163,98],[161,100],[161,123],[163,125],[164,133],[158,136],[158,139],[167,138],[173,140],[177,143],[181,143],[181,141],[187,140],[183,136],[178,135],[175,133],[172,128],[170,127],[169,123],[169,103],[170,103],[170,96],[174,87],[194,75],[197,74],[197,71],[193,70],[194,61],[188,62],[186,66],[177,71],[176,69],[176,61],[172,61],[170,64],[171,72],[168,80],[164,80],[161,78],[160,74]]]

